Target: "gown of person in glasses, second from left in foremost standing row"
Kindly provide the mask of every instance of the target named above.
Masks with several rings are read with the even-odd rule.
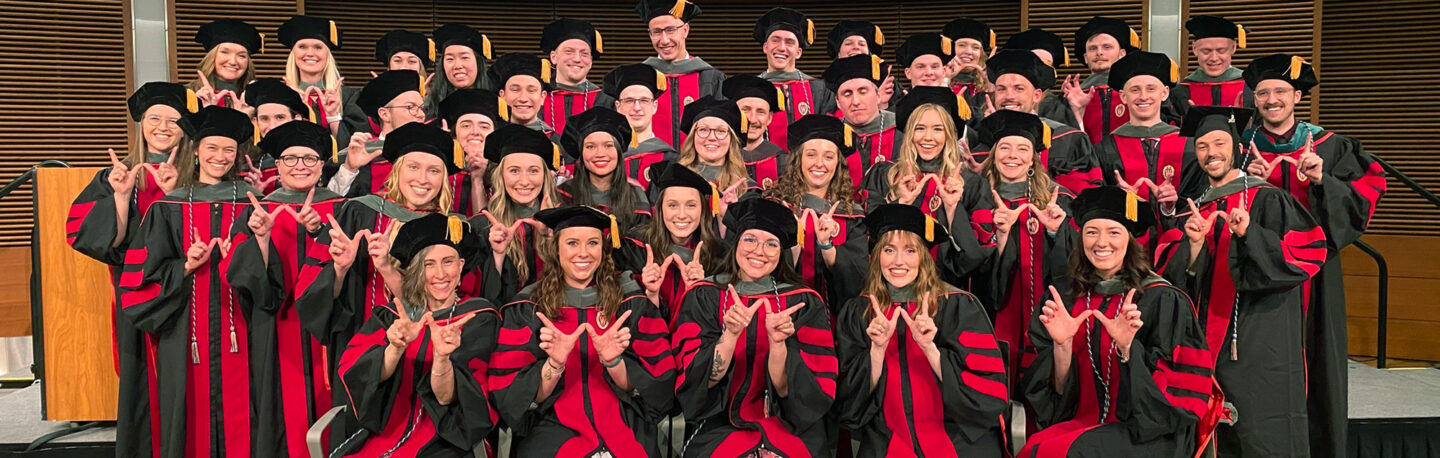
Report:
[[[251,385],[256,393],[251,452],[255,455],[310,455],[302,431],[331,406],[325,341],[304,328],[295,310],[295,298],[314,282],[320,264],[330,259],[330,246],[315,242],[292,213],[278,210],[288,206],[298,212],[305,196],[288,189],[265,196],[261,205],[275,219],[266,248],[269,261],[261,258],[259,241],[246,225],[238,228],[248,239],[236,245],[226,274],[251,324]],[[325,219],[343,202],[317,187],[311,209]]]

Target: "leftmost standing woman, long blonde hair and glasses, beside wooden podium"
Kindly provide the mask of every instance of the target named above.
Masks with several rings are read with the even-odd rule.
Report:
[[[181,85],[147,82],[130,95],[127,105],[131,121],[138,125],[135,141],[124,160],[111,150],[111,167],[95,173],[75,196],[66,216],[65,241],[82,255],[109,265],[115,287],[111,292],[115,370],[120,374],[115,451],[124,457],[151,457],[151,438],[160,431],[158,405],[150,392],[156,383],[150,364],[156,343],[120,313],[120,274],[125,271],[125,251],[150,205],[176,186],[179,174],[171,160],[184,138],[180,115],[190,114],[199,101]]]

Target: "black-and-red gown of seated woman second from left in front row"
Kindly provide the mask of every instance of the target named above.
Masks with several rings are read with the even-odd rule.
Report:
[[[564,372],[550,398],[534,402],[549,354],[540,350],[537,304],[533,287],[503,310],[498,346],[490,359],[490,386],[495,409],[514,431],[511,457],[660,457],[657,442],[660,419],[674,403],[675,360],[670,350],[665,318],[645,298],[628,272],[621,278],[622,300],[616,317],[631,311],[625,324],[605,323],[599,317],[599,291],[595,287],[564,287],[564,305],[550,321],[562,333],[573,333],[582,323],[596,331],[616,327],[631,330],[631,346],[621,353],[631,390],[622,392],[586,333],[566,357]],[[606,317],[605,321],[613,321]]]

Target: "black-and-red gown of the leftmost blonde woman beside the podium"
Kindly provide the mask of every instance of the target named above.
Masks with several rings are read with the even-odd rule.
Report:
[[[163,163],[164,154],[145,154],[148,163]],[[125,269],[125,253],[130,249],[140,223],[150,205],[164,193],[150,177],[140,173],[141,180],[130,194],[130,213],[125,238],[111,246],[120,226],[115,215],[115,190],[109,187],[111,167],[101,169],[89,184],[75,196],[69,215],[65,217],[65,242],[91,259],[104,262],[111,275],[111,340],[115,351],[115,372],[120,374],[120,408],[115,419],[117,457],[151,457],[158,445],[160,415],[156,403],[156,372],[151,360],[156,341],[135,328],[135,323],[121,308],[120,279]]]

